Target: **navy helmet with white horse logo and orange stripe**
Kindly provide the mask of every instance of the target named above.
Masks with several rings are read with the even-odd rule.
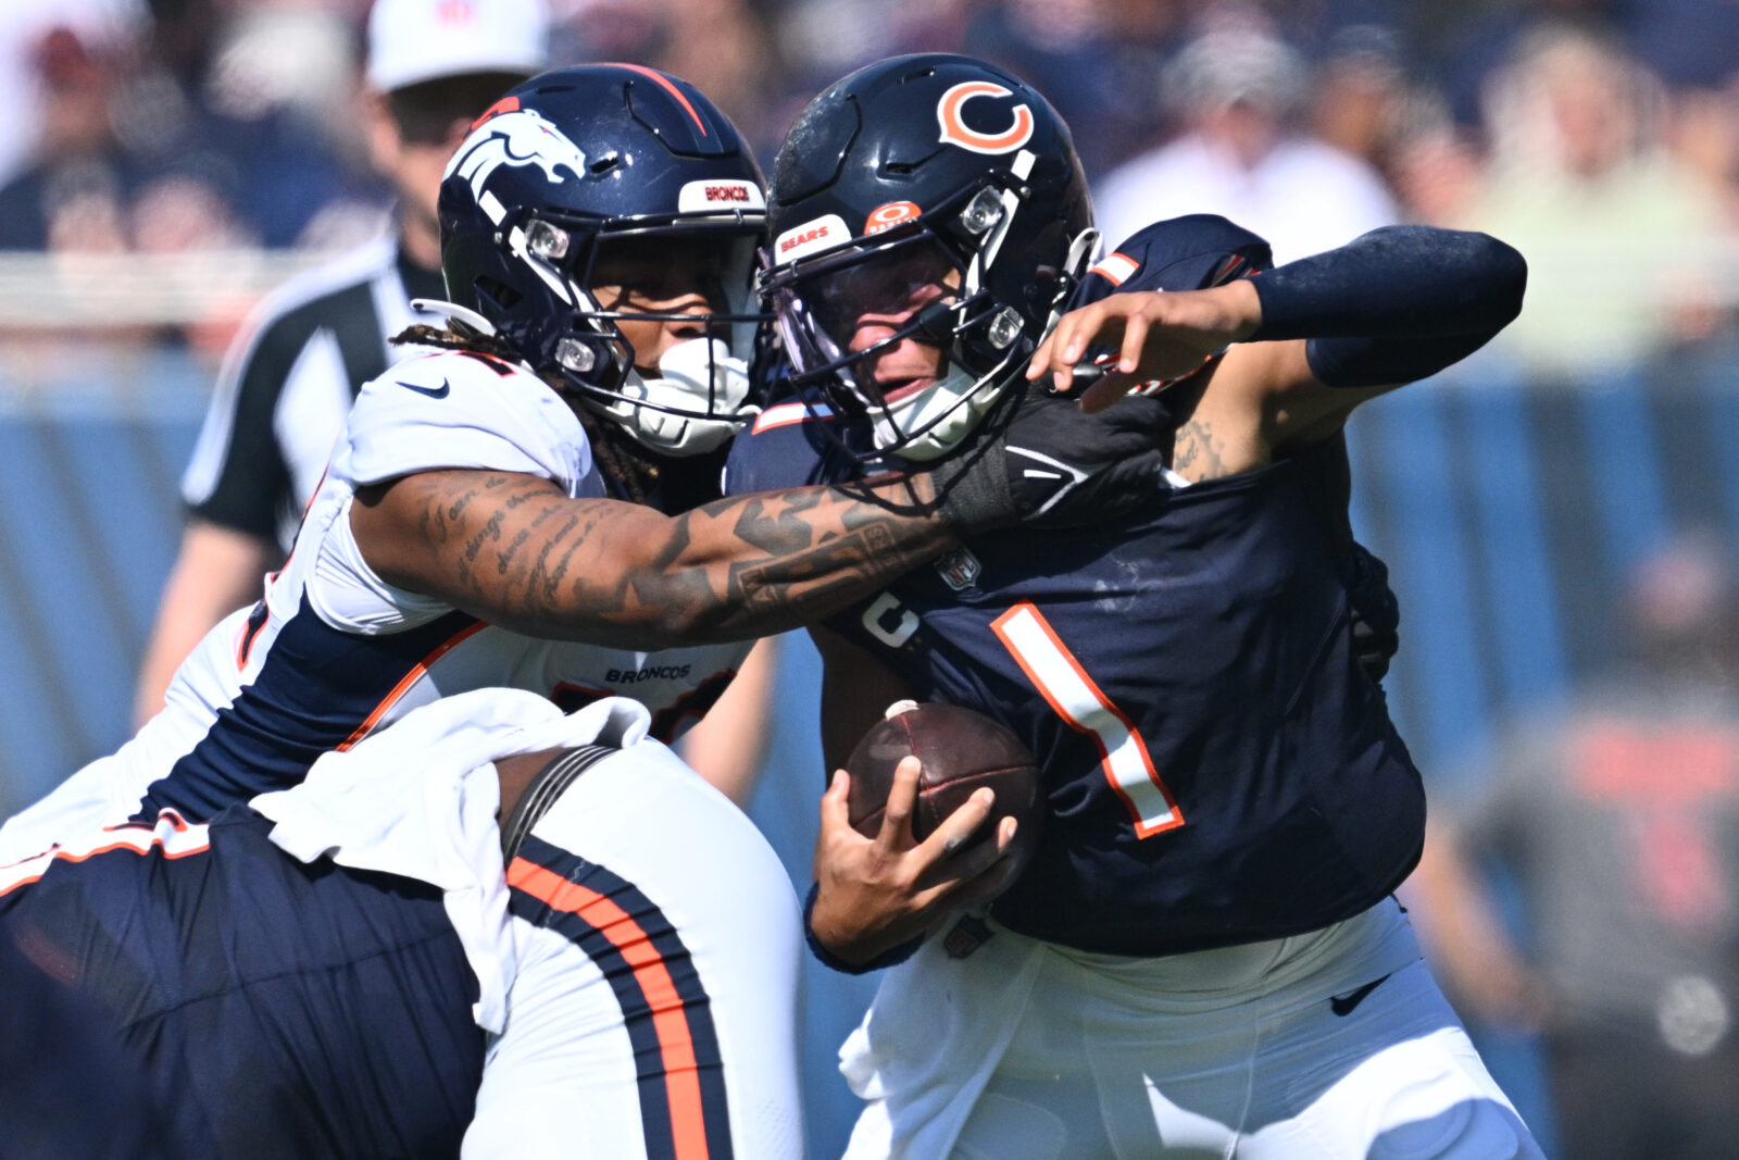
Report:
[[[461,323],[487,323],[536,370],[666,456],[723,443],[753,412],[746,358],[763,177],[701,92],[638,64],[555,70],[511,89],[471,127],[440,186],[442,273]],[[600,259],[704,270],[706,337],[636,370],[607,310]],[[689,287],[692,289],[692,287]],[[661,294],[661,297],[668,297]]]

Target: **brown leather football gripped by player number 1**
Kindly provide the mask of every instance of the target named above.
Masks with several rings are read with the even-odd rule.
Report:
[[[1000,722],[958,704],[892,704],[845,760],[845,772],[852,776],[847,814],[852,828],[866,838],[882,828],[894,767],[908,753],[923,763],[911,816],[913,840],[923,842],[974,790],[989,786],[996,802],[967,845],[989,840],[998,823],[1012,814],[1019,824],[1009,856],[1019,873],[1045,821],[1038,762],[1026,744]]]

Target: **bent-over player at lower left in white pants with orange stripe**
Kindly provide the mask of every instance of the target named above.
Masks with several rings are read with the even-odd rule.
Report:
[[[796,897],[649,723],[478,689],[207,824],[0,868],[0,948],[120,1073],[57,1108],[115,1130],[141,1089],[183,1155],[249,1160],[800,1157]]]

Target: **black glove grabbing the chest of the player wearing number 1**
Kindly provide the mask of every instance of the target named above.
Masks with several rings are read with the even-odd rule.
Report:
[[[941,517],[965,537],[1137,511],[1169,490],[1162,433],[1165,409],[1153,398],[1127,397],[1087,414],[1036,388],[1014,391],[932,470]]]

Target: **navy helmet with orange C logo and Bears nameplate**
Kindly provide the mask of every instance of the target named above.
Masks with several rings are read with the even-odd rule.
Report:
[[[774,160],[762,285],[791,386],[868,417],[876,457],[941,456],[1024,384],[1096,238],[1068,125],[1026,82],[948,54],[863,68]],[[943,290],[915,299],[925,285]],[[892,336],[859,336],[871,313]],[[866,367],[911,337],[946,369],[885,397]]]

